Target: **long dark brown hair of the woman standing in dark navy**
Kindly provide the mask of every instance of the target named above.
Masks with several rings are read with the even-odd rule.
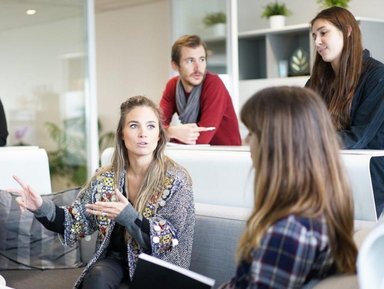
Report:
[[[360,28],[352,13],[342,7],[333,6],[322,10],[312,19],[311,26],[317,19],[330,22],[342,32],[343,48],[340,68],[336,74],[330,62],[322,60],[316,52],[309,87],[324,99],[336,128],[347,129],[353,94],[362,71]],[[349,36],[348,27],[351,28]]]

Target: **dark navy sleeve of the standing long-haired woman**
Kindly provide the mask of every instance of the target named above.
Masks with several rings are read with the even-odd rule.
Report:
[[[357,104],[351,108],[349,129],[338,132],[344,149],[364,149],[384,125],[384,65],[372,67],[362,80]]]

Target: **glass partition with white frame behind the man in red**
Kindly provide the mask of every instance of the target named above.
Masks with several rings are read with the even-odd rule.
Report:
[[[220,76],[232,97],[233,106],[237,113],[236,9],[235,0],[171,1],[171,42],[173,43],[174,40],[184,34],[197,34],[205,41],[207,45],[207,70]],[[235,37],[233,37],[233,33]]]

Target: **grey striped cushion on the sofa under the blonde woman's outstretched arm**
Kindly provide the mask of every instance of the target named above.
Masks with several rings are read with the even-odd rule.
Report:
[[[79,188],[41,196],[58,206],[71,204]],[[25,210],[20,213],[15,196],[0,191],[0,270],[68,269],[80,267],[79,244],[63,247],[50,232]]]

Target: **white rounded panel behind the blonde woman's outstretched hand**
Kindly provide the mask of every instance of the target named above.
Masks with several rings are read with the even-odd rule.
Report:
[[[0,189],[19,188],[12,175],[17,175],[39,194],[50,194],[48,156],[38,147],[0,148]]]

